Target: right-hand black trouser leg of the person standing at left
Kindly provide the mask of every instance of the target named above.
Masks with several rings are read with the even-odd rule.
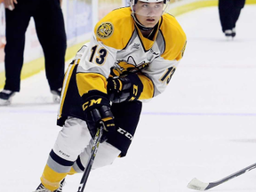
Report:
[[[44,50],[45,73],[50,89],[57,92],[61,88],[64,78],[67,48],[60,0],[39,0],[36,7],[34,19],[36,33]]]

